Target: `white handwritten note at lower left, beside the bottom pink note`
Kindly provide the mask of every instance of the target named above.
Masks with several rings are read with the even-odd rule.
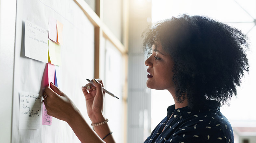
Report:
[[[19,129],[39,129],[41,96],[29,92],[19,92]]]

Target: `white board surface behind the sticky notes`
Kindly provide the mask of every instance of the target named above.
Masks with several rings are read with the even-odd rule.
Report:
[[[39,94],[46,65],[45,62],[24,56],[24,24],[28,20],[48,30],[49,16],[64,25],[61,76],[57,77],[61,79],[60,89],[70,97],[85,120],[90,123],[81,87],[87,83],[86,78],[92,79],[94,76],[94,26],[72,0],[18,0],[13,85],[13,143],[80,142],[66,122],[54,117],[51,126],[41,125],[40,129],[19,130],[19,92]]]

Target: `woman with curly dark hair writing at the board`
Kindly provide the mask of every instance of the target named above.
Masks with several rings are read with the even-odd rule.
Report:
[[[236,86],[244,71],[249,71],[246,36],[210,18],[183,15],[149,27],[143,45],[149,54],[145,61],[147,87],[168,90],[175,102],[145,143],[234,142],[220,103],[226,104],[233,94],[237,95]],[[102,113],[103,84],[95,79],[94,84],[86,84],[82,91],[97,134],[53,84],[45,88],[47,113],[66,121],[81,142],[112,143],[112,132]]]

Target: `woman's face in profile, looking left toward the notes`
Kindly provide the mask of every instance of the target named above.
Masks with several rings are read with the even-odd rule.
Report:
[[[145,61],[148,66],[147,87],[157,90],[173,90],[173,60],[162,45],[152,46],[152,55]]]

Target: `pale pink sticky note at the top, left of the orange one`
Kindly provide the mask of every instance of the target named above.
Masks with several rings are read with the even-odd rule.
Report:
[[[49,16],[49,39],[57,43],[57,20]]]

